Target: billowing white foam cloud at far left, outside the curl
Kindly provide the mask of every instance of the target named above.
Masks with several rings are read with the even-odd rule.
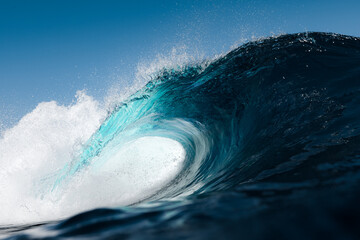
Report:
[[[105,112],[84,92],[70,106],[40,103],[0,138],[0,224],[43,220],[37,180],[70,161]],[[48,215],[52,214],[49,209]]]

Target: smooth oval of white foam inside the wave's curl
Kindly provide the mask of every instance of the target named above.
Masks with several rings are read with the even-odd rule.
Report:
[[[179,174],[185,150],[169,138],[141,137],[105,157],[108,159],[103,164],[94,164],[72,179],[68,186],[71,191],[62,195],[61,205],[73,208],[74,202],[81,203],[76,210],[82,211],[144,200]]]

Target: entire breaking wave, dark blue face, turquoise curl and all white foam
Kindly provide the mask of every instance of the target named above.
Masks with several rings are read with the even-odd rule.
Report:
[[[84,93],[40,104],[0,140],[1,224],[83,212],[45,235],[252,236],[247,219],[265,234],[302,204],[340,234],[332,210],[358,209],[359,91],[360,39],[301,33],[163,68],[110,113]]]

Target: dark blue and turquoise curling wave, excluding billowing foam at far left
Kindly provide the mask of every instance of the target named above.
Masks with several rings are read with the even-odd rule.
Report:
[[[119,104],[42,179],[41,196],[97,209],[16,236],[352,239],[359,156],[360,39],[258,40]]]

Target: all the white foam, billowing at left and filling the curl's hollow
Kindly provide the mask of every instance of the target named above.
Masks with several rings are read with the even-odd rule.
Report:
[[[105,156],[103,165],[86,168],[52,192],[59,171],[81,152],[106,117],[102,109],[79,92],[70,106],[40,103],[4,132],[0,225],[56,220],[96,207],[136,203],[177,176],[185,158],[182,145],[168,138],[142,137],[118,146]]]

